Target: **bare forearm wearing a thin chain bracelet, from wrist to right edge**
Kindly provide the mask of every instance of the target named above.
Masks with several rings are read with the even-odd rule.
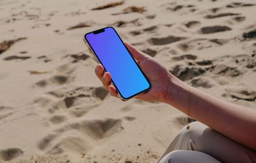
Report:
[[[189,104],[190,93],[190,104]],[[208,95],[172,77],[166,103],[226,135],[226,137],[256,150],[256,111]]]

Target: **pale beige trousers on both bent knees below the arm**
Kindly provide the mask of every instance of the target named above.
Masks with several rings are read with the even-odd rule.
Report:
[[[190,123],[189,126],[188,130],[185,126],[178,133],[157,163],[256,162],[256,151],[200,122]]]

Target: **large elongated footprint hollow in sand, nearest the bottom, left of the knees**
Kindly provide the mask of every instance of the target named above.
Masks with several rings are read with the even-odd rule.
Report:
[[[120,119],[76,120],[52,130],[38,143],[38,148],[49,154],[71,151],[85,153],[99,141],[104,143],[123,127]]]

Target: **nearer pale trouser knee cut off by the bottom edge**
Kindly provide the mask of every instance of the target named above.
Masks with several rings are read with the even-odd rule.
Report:
[[[159,163],[220,163],[208,154],[190,151],[176,150],[165,155]]]

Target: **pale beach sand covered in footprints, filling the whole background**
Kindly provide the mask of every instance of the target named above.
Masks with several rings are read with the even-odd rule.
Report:
[[[0,162],[156,162],[186,124],[102,88],[82,37],[108,25],[184,82],[255,109],[255,15],[254,0],[0,0]]]

